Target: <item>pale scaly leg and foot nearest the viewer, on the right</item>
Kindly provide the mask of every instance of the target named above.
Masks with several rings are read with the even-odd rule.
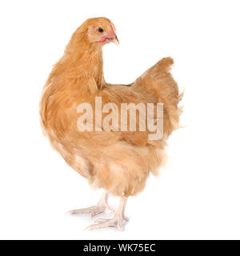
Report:
[[[121,198],[120,205],[118,206],[118,210],[116,210],[115,212],[114,218],[110,218],[110,219],[99,218],[97,219],[97,222],[99,222],[98,224],[88,226],[86,227],[85,230],[96,230],[96,229],[102,229],[109,226],[116,226],[118,227],[118,230],[123,230],[122,222],[129,220],[129,218],[126,218],[124,215],[126,200],[127,198],[125,197]]]

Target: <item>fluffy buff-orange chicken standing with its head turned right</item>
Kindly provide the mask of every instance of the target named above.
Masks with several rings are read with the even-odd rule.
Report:
[[[102,46],[110,42],[118,42],[114,24],[108,18],[87,19],[74,32],[62,58],[54,65],[40,101],[42,130],[51,146],[87,179],[90,186],[105,191],[96,206],[69,213],[91,214],[93,217],[106,209],[114,212],[113,218],[98,219],[98,224],[87,230],[107,226],[122,230],[122,224],[128,220],[124,215],[127,198],[141,192],[149,175],[157,174],[159,167],[164,165],[166,140],[178,129],[181,114],[178,102],[182,94],[179,94],[178,85],[170,74],[173,59],[162,58],[129,85],[113,85],[105,82],[103,76]],[[126,112],[127,129],[119,129],[121,118],[117,121],[108,118],[105,124],[108,120],[110,129],[103,130],[102,120],[110,114],[102,110],[102,119],[98,120],[99,102],[96,98],[101,98],[101,106],[110,106],[111,114],[117,117],[124,103],[152,104],[154,110],[157,110],[157,103],[161,103],[161,138],[150,139],[154,131],[149,128],[140,130],[140,125],[146,125],[145,121],[140,122],[146,112],[140,110],[136,112],[139,129],[130,129],[129,110]],[[82,103],[90,104],[93,113],[83,113],[79,108]],[[159,118],[155,112],[152,119],[156,125]],[[83,125],[89,118],[94,120],[90,125],[94,130],[87,126],[85,130],[81,130],[82,126],[79,130],[79,118],[83,116]],[[108,205],[110,194],[121,198],[117,210]]]

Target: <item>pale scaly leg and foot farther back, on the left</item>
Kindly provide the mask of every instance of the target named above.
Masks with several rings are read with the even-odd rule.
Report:
[[[70,210],[67,212],[67,214],[90,214],[91,217],[94,217],[98,214],[102,214],[106,209],[115,211],[113,207],[107,204],[108,198],[109,194],[104,192],[96,206],[90,206],[88,208],[82,208],[78,210]]]

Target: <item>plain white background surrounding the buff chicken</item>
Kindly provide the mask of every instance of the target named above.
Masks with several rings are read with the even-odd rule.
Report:
[[[0,238],[240,238],[238,1],[22,0],[2,1],[0,12]],[[66,165],[39,126],[51,66],[74,30],[98,16],[114,22],[120,40],[104,47],[107,82],[133,82],[171,56],[185,89],[186,127],[171,136],[160,178],[129,199],[123,232],[84,232],[90,217],[65,214],[94,205],[101,191]]]

